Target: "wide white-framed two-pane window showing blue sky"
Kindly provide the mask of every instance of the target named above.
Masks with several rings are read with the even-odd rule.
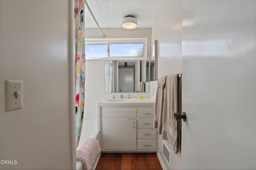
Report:
[[[146,59],[146,38],[85,39],[86,59]]]

